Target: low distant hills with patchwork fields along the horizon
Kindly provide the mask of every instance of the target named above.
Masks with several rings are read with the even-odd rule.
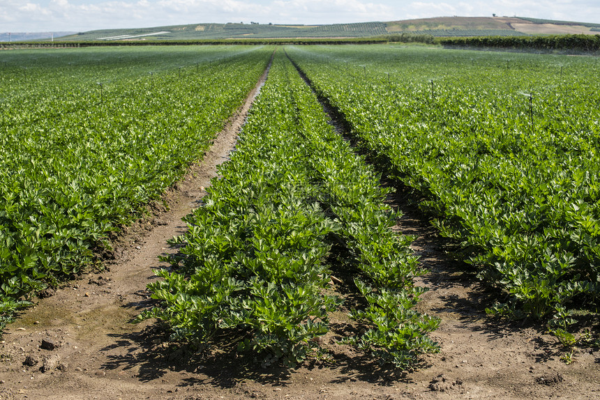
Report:
[[[444,36],[598,34],[600,24],[525,17],[435,17],[330,25],[188,24],[140,29],[103,29],[54,40],[220,40],[259,38],[361,38],[400,33]],[[1,39],[1,36],[0,36]]]

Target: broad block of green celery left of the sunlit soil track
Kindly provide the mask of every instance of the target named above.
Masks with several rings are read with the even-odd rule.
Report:
[[[117,52],[104,50],[87,49],[81,59],[68,50],[61,61],[54,51],[39,51],[36,66],[31,52],[22,59],[19,52],[3,57],[28,66],[37,84],[7,74],[0,85],[6,94],[0,124],[0,325],[29,304],[32,293],[79,272],[110,231],[139,216],[144,203],[158,199],[190,162],[200,160],[272,52],[220,49],[221,61],[190,61],[201,60],[203,50],[181,51],[179,58],[168,48],[119,53],[130,67],[140,56],[163,60],[163,70],[153,75],[143,64],[137,73],[122,69]],[[206,51],[209,61],[214,53]],[[71,61],[77,66],[68,66]],[[179,68],[182,62],[186,68]],[[66,79],[63,66],[73,79]],[[103,93],[96,79],[108,82]],[[36,110],[38,100],[42,107]]]

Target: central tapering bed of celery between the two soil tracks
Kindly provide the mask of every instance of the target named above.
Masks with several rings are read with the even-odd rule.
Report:
[[[263,364],[294,365],[329,330],[340,300],[326,289],[342,262],[366,305],[352,311],[364,332],[347,343],[400,368],[437,350],[426,334],[438,321],[414,310],[420,271],[410,240],[389,229],[387,190],[280,52],[220,174],[174,238],[183,248],[171,268],[149,285],[160,305],[139,320],[160,318],[173,340],[198,348],[229,332]],[[339,243],[347,256],[333,261]]]

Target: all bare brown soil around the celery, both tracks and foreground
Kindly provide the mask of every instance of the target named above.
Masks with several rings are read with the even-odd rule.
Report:
[[[168,209],[155,204],[150,217],[115,238],[115,251],[103,254],[105,270],[40,299],[6,329],[0,400],[600,398],[600,352],[580,349],[567,365],[555,339],[538,326],[486,316],[484,300],[492,293],[453,261],[451,244],[437,237],[405,194],[390,199],[405,213],[396,229],[416,237],[414,251],[430,270],[417,283],[430,288],[419,307],[442,321],[432,334],[440,353],[423,356],[415,371],[381,367],[337,344],[352,330],[343,312],[332,316],[322,341],[329,353],[296,369],[262,368],[238,358],[234,343],[195,354],[168,344],[158,323],[129,323],[151,307],[145,289],[156,279],[158,256],[176,251],[166,241],[185,231],[181,218],[199,206],[216,165],[234,148],[253,94],[202,163],[165,194]],[[344,293],[343,272],[336,273],[332,289]]]

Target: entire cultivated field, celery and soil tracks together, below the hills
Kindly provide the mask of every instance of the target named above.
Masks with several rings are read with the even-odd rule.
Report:
[[[595,58],[136,47],[0,68],[0,399],[600,390]]]

